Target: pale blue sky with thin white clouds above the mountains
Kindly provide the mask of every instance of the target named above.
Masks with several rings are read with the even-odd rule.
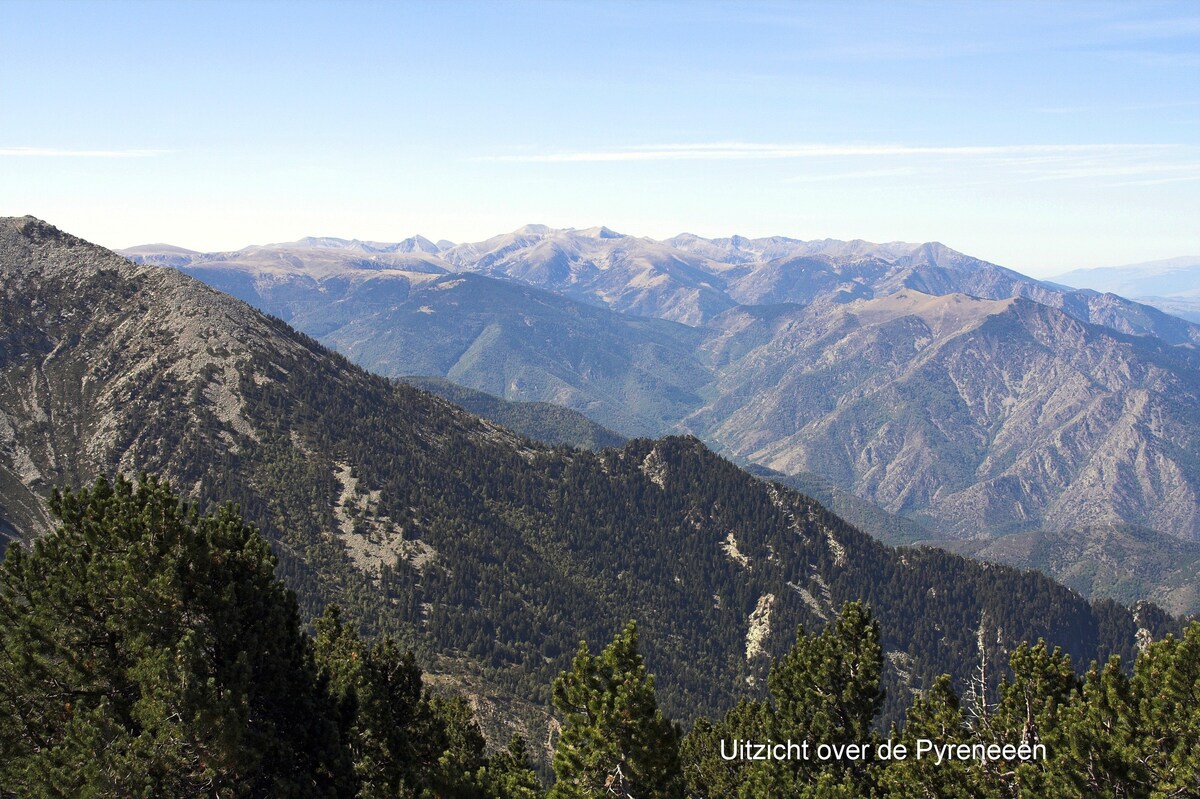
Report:
[[[1196,2],[0,0],[0,215],[1200,254]]]

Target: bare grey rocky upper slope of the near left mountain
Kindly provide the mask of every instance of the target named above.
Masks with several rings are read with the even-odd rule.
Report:
[[[254,434],[250,356],[296,348],[242,302],[32,217],[0,220],[0,518],[26,535],[52,487],[97,474],[190,491],[194,450],[220,459]]]

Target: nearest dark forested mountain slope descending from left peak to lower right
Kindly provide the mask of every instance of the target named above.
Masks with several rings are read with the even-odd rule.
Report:
[[[52,487],[95,474],[234,500],[306,618],[336,601],[480,704],[532,717],[577,642],[630,618],[678,719],[761,695],[797,627],[851,600],[881,623],[886,719],[908,689],[941,673],[965,686],[1021,641],[1129,662],[1139,635],[1174,624],[1034,572],[887,547],[696,438],[533,443],[31,217],[0,222],[0,281],[5,529],[36,536]]]

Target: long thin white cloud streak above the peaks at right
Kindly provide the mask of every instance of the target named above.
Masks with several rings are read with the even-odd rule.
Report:
[[[613,161],[768,161],[832,157],[1030,157],[1150,152],[1163,144],[1009,144],[979,146],[913,146],[904,144],[659,144],[613,150],[581,150],[481,156],[480,161],[518,163],[587,163]]]

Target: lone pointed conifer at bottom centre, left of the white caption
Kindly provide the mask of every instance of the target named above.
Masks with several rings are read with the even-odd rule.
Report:
[[[682,799],[679,731],[659,710],[632,621],[599,656],[581,643],[553,699],[565,716],[553,799]]]

